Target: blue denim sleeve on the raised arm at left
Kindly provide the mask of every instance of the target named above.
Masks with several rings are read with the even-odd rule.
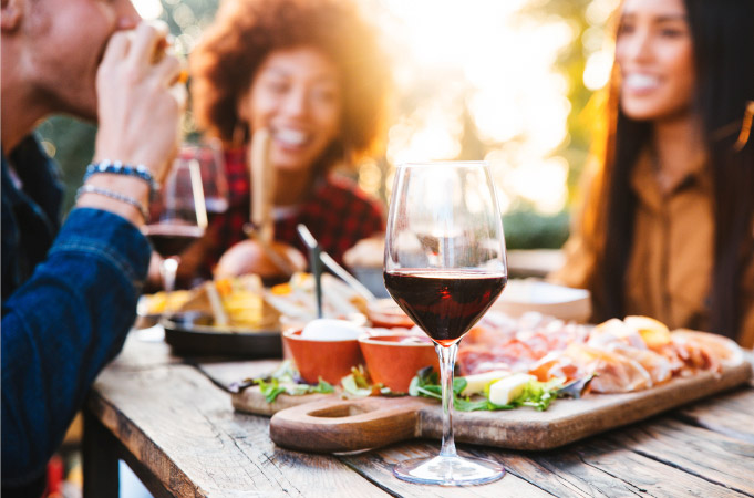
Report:
[[[136,227],[74,209],[2,309],[2,481],[44,471],[97,373],[133,324],[151,248]]]

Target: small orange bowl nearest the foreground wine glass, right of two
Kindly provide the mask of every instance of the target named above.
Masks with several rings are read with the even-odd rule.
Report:
[[[359,338],[372,382],[407,393],[416,371],[432,365],[440,372],[434,343],[426,335],[384,334]]]

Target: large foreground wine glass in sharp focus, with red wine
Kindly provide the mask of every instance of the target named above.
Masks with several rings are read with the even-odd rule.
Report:
[[[420,484],[473,485],[505,469],[463,458],[453,439],[453,367],[458,341],[507,283],[503,222],[489,168],[477,162],[397,167],[388,217],[385,288],[435,343],[443,391],[440,455],[411,459],[393,470]]]

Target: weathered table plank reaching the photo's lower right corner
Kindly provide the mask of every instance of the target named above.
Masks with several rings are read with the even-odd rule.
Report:
[[[726,437],[673,419],[641,424],[608,438],[723,487],[754,496],[754,443]],[[748,473],[741,471],[748,461]]]

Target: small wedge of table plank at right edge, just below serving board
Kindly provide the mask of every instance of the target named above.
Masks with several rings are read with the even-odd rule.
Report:
[[[716,396],[713,404],[699,402],[678,411],[693,425],[754,443],[754,388],[742,387]]]

